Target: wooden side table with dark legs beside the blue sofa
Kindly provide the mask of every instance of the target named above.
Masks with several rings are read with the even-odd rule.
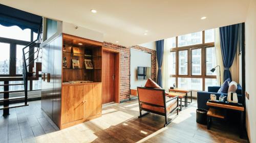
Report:
[[[207,102],[207,106],[210,107],[210,109],[207,112],[207,129],[210,129],[210,123],[211,118],[220,118],[220,119],[226,119],[226,110],[236,110],[240,112],[240,138],[242,138],[243,135],[243,120],[244,120],[244,107],[241,106],[233,106],[233,105],[227,105],[227,104],[220,104],[220,103],[212,103]]]

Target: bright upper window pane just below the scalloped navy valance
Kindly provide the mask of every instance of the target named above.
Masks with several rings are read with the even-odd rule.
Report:
[[[22,30],[18,26],[6,27],[0,24],[0,37],[30,41],[30,29]]]

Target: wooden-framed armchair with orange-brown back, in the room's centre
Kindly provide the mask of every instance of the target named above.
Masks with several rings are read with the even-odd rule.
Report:
[[[179,114],[178,96],[167,99],[166,101],[165,91],[163,89],[137,87],[137,90],[140,109],[140,116],[138,118],[152,112],[165,117],[165,127],[173,120],[167,121],[171,113],[177,111],[177,115]],[[146,111],[146,113],[141,114],[142,110]]]

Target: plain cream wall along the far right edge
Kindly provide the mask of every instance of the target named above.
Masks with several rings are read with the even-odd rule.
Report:
[[[250,142],[256,142],[256,1],[251,0],[245,21],[245,90],[250,94],[246,98],[246,128]]]

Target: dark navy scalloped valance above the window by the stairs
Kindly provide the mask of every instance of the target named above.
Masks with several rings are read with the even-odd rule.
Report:
[[[0,4],[0,24],[3,26],[18,26],[22,30],[31,29],[37,33],[41,16],[14,9]]]

